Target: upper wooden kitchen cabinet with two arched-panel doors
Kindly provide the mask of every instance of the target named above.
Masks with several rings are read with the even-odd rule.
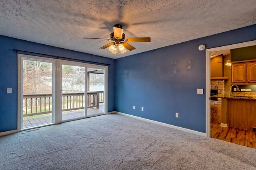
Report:
[[[256,61],[232,64],[231,84],[251,85],[256,84]]]

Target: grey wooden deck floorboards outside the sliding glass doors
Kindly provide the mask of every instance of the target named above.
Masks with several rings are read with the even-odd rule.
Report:
[[[100,104],[99,109],[95,109],[95,108],[87,109],[87,117],[97,115],[100,113],[104,113],[104,103]],[[84,117],[84,110],[62,113],[62,121],[69,120],[69,119],[76,119],[79,117]],[[43,115],[43,116],[38,115],[38,117],[31,117],[31,118],[23,117],[23,128],[44,125],[48,123],[52,123],[52,115]]]

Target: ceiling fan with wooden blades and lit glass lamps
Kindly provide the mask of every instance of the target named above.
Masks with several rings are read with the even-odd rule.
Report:
[[[150,42],[150,37],[125,38],[125,34],[123,33],[124,29],[122,29],[122,25],[120,24],[114,25],[113,30],[114,32],[110,34],[110,39],[104,39],[104,38],[84,38],[84,39],[113,41],[111,43],[108,43],[107,45],[104,45],[103,47],[100,47],[100,49],[105,49],[109,47],[108,49],[114,54],[116,54],[117,52],[119,54],[125,53],[126,49],[130,51],[134,50],[135,47],[128,44],[128,42]]]

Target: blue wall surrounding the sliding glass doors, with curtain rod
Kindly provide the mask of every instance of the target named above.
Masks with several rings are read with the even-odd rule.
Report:
[[[114,59],[0,35],[0,132],[17,129],[17,54],[12,49],[111,64],[108,67],[108,111],[114,111]],[[6,93],[8,87],[12,88],[12,94]]]

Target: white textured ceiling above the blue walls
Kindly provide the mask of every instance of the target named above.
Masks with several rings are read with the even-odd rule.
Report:
[[[1,0],[0,34],[116,58],[107,41],[114,24],[126,38],[150,43],[120,57],[256,24],[255,0]]]

